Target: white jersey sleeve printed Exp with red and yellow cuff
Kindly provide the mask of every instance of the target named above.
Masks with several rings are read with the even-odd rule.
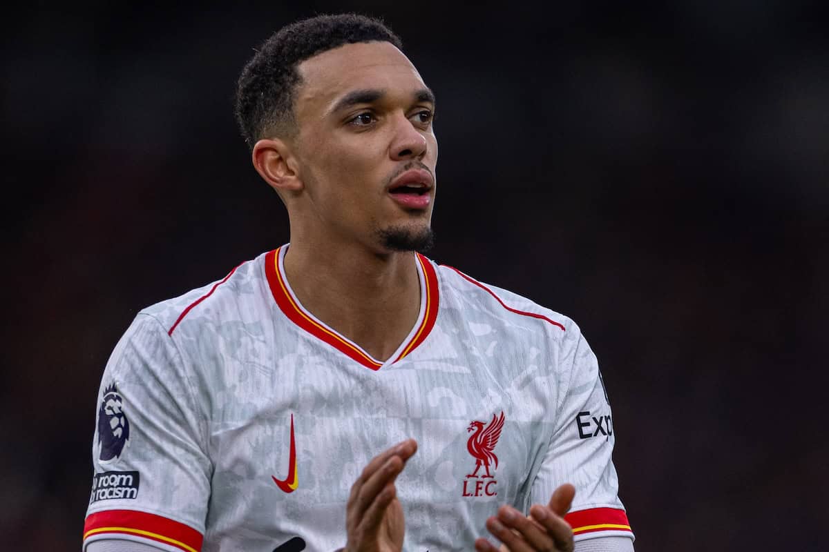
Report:
[[[556,487],[572,483],[575,497],[565,520],[574,539],[627,536],[628,516],[618,498],[613,467],[613,415],[593,351],[575,324],[562,341],[557,371],[566,386],[554,430],[531,491],[531,503],[546,504]]]

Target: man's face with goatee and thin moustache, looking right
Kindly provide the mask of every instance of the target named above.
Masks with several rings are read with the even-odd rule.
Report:
[[[434,96],[414,65],[390,43],[369,42],[298,69],[303,197],[293,207],[304,211],[303,231],[376,252],[419,249],[431,238],[438,142]]]

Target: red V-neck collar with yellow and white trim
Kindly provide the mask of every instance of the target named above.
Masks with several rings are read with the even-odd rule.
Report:
[[[429,332],[432,331],[434,321],[438,318],[438,277],[434,272],[432,263],[420,253],[414,253],[420,283],[420,312],[417,322],[414,323],[414,328],[403,340],[403,343],[400,343],[400,347],[397,348],[395,353],[385,362],[381,362],[366,353],[351,339],[339,334],[337,330],[317,319],[303,307],[297,296],[294,295],[293,290],[291,290],[288,278],[285,277],[284,258],[287,251],[288,244],[285,244],[265,256],[265,276],[268,277],[270,290],[274,295],[276,304],[279,305],[279,309],[293,324],[298,325],[308,334],[321,339],[333,348],[337,348],[352,360],[371,368],[371,370],[379,370],[381,367],[405,358],[406,355],[414,351],[414,348],[423,343]]]

